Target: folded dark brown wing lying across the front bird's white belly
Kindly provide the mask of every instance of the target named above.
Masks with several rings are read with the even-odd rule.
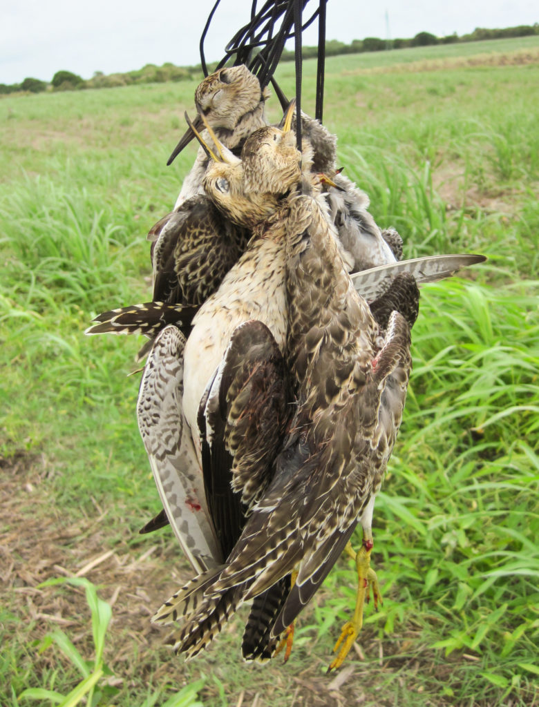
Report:
[[[208,508],[225,557],[270,482],[286,423],[285,387],[270,329],[257,321],[237,327],[197,418]]]

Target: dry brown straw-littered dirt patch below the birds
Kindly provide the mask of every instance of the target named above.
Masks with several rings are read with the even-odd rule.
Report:
[[[180,689],[201,674],[209,676],[199,694],[205,707],[223,703],[219,682],[227,703],[236,707],[383,707],[413,704],[410,696],[416,690],[421,693],[414,676],[426,670],[426,665],[417,660],[417,653],[407,653],[412,636],[382,643],[369,627],[363,645],[368,645],[370,659],[364,660],[364,652],[356,644],[354,660],[348,660],[340,672],[330,676],[325,675],[330,637],[318,645],[315,637],[300,643],[286,665],[280,658],[265,665],[242,662],[240,618],[227,627],[224,633],[228,636],[221,636],[203,658],[188,663],[176,658],[162,645],[166,633],[149,621],[163,599],[190,577],[187,564],[178,561],[179,550],[173,539],[161,534],[139,541],[134,529],[141,519],[126,521],[126,532],[119,533],[122,509],[101,508],[97,503],[92,515],[66,518],[47,490],[50,472],[44,457],[0,457],[0,601],[13,615],[4,629],[10,640],[21,646],[18,673],[28,670],[33,674],[33,686],[47,686],[47,675],[64,661],[54,648],[42,653],[38,650],[43,636],[54,629],[65,631],[81,655],[92,658],[90,611],[83,589],[71,585],[37,587],[49,578],[79,576],[98,585],[98,594],[112,606],[105,640],[105,662],[113,673],[108,681],[122,692],[139,696],[134,707],[142,701],[140,695],[149,684],[152,689],[164,685]],[[113,537],[120,539],[114,539],[111,547],[112,531]],[[324,600],[323,592],[318,592],[317,600]],[[305,614],[308,620],[307,610]],[[391,658],[384,658],[384,652]],[[451,664],[435,667],[434,662],[430,663],[429,670],[444,669],[451,670]],[[440,673],[436,677],[443,676]],[[406,694],[407,699],[396,702],[398,693]],[[425,706],[445,704],[443,699],[431,702],[425,698],[422,696],[420,702]],[[122,701],[118,695],[117,703],[129,701]]]

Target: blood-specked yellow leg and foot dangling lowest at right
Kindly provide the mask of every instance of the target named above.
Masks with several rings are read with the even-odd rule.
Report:
[[[372,547],[372,542],[369,540],[364,540],[364,544],[357,553],[352,550],[351,544],[346,547],[347,554],[354,558],[357,568],[356,608],[352,620],[347,621],[342,627],[341,635],[333,648],[333,653],[337,653],[337,650],[339,652],[330,663],[328,672],[342,665],[344,658],[347,657],[350,648],[352,648],[354,641],[359,636],[359,631],[361,631],[361,626],[363,626],[364,605],[369,602],[371,592],[376,611],[378,611],[378,604],[382,604],[378,579],[376,578],[376,573],[370,567]]]

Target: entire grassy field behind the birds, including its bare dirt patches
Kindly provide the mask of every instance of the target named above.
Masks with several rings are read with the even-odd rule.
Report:
[[[189,569],[170,532],[137,534],[158,509],[127,376],[140,342],[82,333],[150,296],[146,233],[194,156],[164,166],[195,83],[0,100],[3,707],[60,703],[84,680],[94,704],[117,707],[189,707],[197,693],[204,707],[539,705],[538,40],[327,62],[325,122],[376,221],[398,228],[407,257],[489,257],[422,291],[373,522],[383,608],[330,677],[354,603],[344,559],[286,665],[241,662],[241,617],[200,659],[162,647],[149,617]],[[314,75],[306,62],[311,112]],[[74,575],[112,607],[104,646],[91,589],[38,586]]]

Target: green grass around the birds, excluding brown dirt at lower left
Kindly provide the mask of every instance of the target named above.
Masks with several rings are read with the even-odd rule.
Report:
[[[373,525],[384,604],[359,639],[365,703],[531,706],[539,630],[538,68],[352,75],[365,58],[328,61],[326,121],[340,136],[347,175],[371,197],[378,223],[398,228],[408,257],[489,257],[463,279],[422,291],[404,422]],[[306,83],[314,71],[307,63]],[[186,153],[164,167],[192,90],[185,82],[0,101],[8,144],[0,158],[1,453],[50,460],[57,473],[42,488],[64,517],[90,514],[94,501],[112,509],[112,547],[125,534],[118,508],[135,527],[156,506],[134,420],[138,378],[126,375],[139,342],[82,332],[95,312],[149,294],[145,237],[192,160]],[[306,107],[312,99],[306,89]],[[354,592],[354,573],[340,561],[299,621],[291,663],[309,670],[301,661],[312,660],[313,640],[314,653],[329,654],[335,617],[347,619]],[[236,665],[237,638],[221,636],[213,655],[226,662],[224,691],[204,703],[237,702],[238,680],[248,690],[278,690],[268,699],[289,703],[292,673]],[[31,652],[18,643],[12,650],[0,671],[6,684],[16,656]]]

